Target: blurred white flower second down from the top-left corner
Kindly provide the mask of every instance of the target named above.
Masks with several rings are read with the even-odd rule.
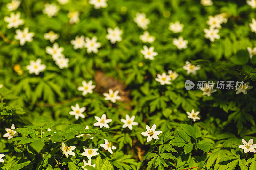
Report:
[[[5,16],[4,21],[8,22],[7,28],[18,28],[20,25],[24,24],[24,19],[20,19],[20,12],[17,12],[15,15],[13,12],[10,14],[10,17]]]

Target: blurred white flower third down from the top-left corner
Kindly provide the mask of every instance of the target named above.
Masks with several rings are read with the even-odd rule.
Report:
[[[29,33],[28,31],[29,31],[28,27],[24,28],[23,31],[21,31],[20,29],[16,30],[16,35],[14,36],[14,38],[16,40],[20,40],[21,46],[23,46],[27,41],[28,42],[33,41],[33,37],[35,33]]]

